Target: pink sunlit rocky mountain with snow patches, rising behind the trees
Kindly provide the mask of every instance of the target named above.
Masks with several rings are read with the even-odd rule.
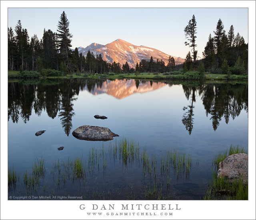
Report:
[[[165,54],[160,50],[156,50],[147,46],[136,46],[122,39],[114,40],[113,42],[106,45],[92,43],[86,48],[78,47],[79,54],[82,53],[82,55],[85,57],[88,50],[93,52],[94,56],[101,54],[103,60],[111,63],[119,62],[121,66],[127,61],[129,66],[133,68],[135,68],[136,63],[140,63],[142,59],[150,61],[151,56],[155,62],[156,59],[163,60],[166,65],[168,63],[169,56],[174,58],[175,64],[182,64],[185,61],[181,57]]]

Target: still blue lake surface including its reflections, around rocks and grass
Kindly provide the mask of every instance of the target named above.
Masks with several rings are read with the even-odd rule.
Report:
[[[108,119],[95,119],[96,114]],[[82,125],[107,127],[119,137],[108,142],[78,140],[72,131]],[[46,132],[35,136],[39,130]],[[113,145],[124,138],[139,145],[129,160],[113,152]],[[248,150],[246,83],[86,79],[8,83],[8,168],[20,177],[9,195],[203,199],[215,154],[231,144]],[[64,149],[58,150],[60,146]],[[162,168],[170,151],[186,153],[188,168],[179,171],[173,163]],[[144,164],[144,155],[149,165]],[[82,178],[67,170],[68,162],[78,157],[85,166]],[[32,176],[32,166],[40,158],[46,170],[38,185],[28,189],[24,172]]]

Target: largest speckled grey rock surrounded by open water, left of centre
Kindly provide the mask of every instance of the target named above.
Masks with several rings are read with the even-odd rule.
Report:
[[[98,126],[83,125],[79,128],[76,128],[72,132],[75,138],[80,140],[99,140],[107,141],[113,140],[113,137],[119,136],[118,134],[113,133],[109,128],[103,128]]]

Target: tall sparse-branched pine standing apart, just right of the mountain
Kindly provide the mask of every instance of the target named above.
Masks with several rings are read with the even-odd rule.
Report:
[[[192,20],[189,20],[188,25],[184,29],[186,39],[188,39],[189,42],[185,42],[184,44],[186,46],[193,48],[193,70],[196,71],[196,55],[197,50],[195,50],[196,45],[196,18],[193,14]]]

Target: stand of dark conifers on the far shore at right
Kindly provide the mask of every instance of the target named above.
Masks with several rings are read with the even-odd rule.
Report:
[[[183,63],[183,71],[202,71],[207,70],[212,73],[222,74],[246,74],[248,73],[248,44],[245,43],[243,36],[237,32],[234,33],[234,26],[231,25],[226,34],[222,20],[219,19],[214,36],[210,34],[208,42],[204,48],[203,59],[198,62],[196,58],[196,18],[193,15],[188,25],[184,29],[184,34],[188,42],[184,42],[186,46],[192,48],[188,52]],[[202,64],[203,63],[203,64]]]

